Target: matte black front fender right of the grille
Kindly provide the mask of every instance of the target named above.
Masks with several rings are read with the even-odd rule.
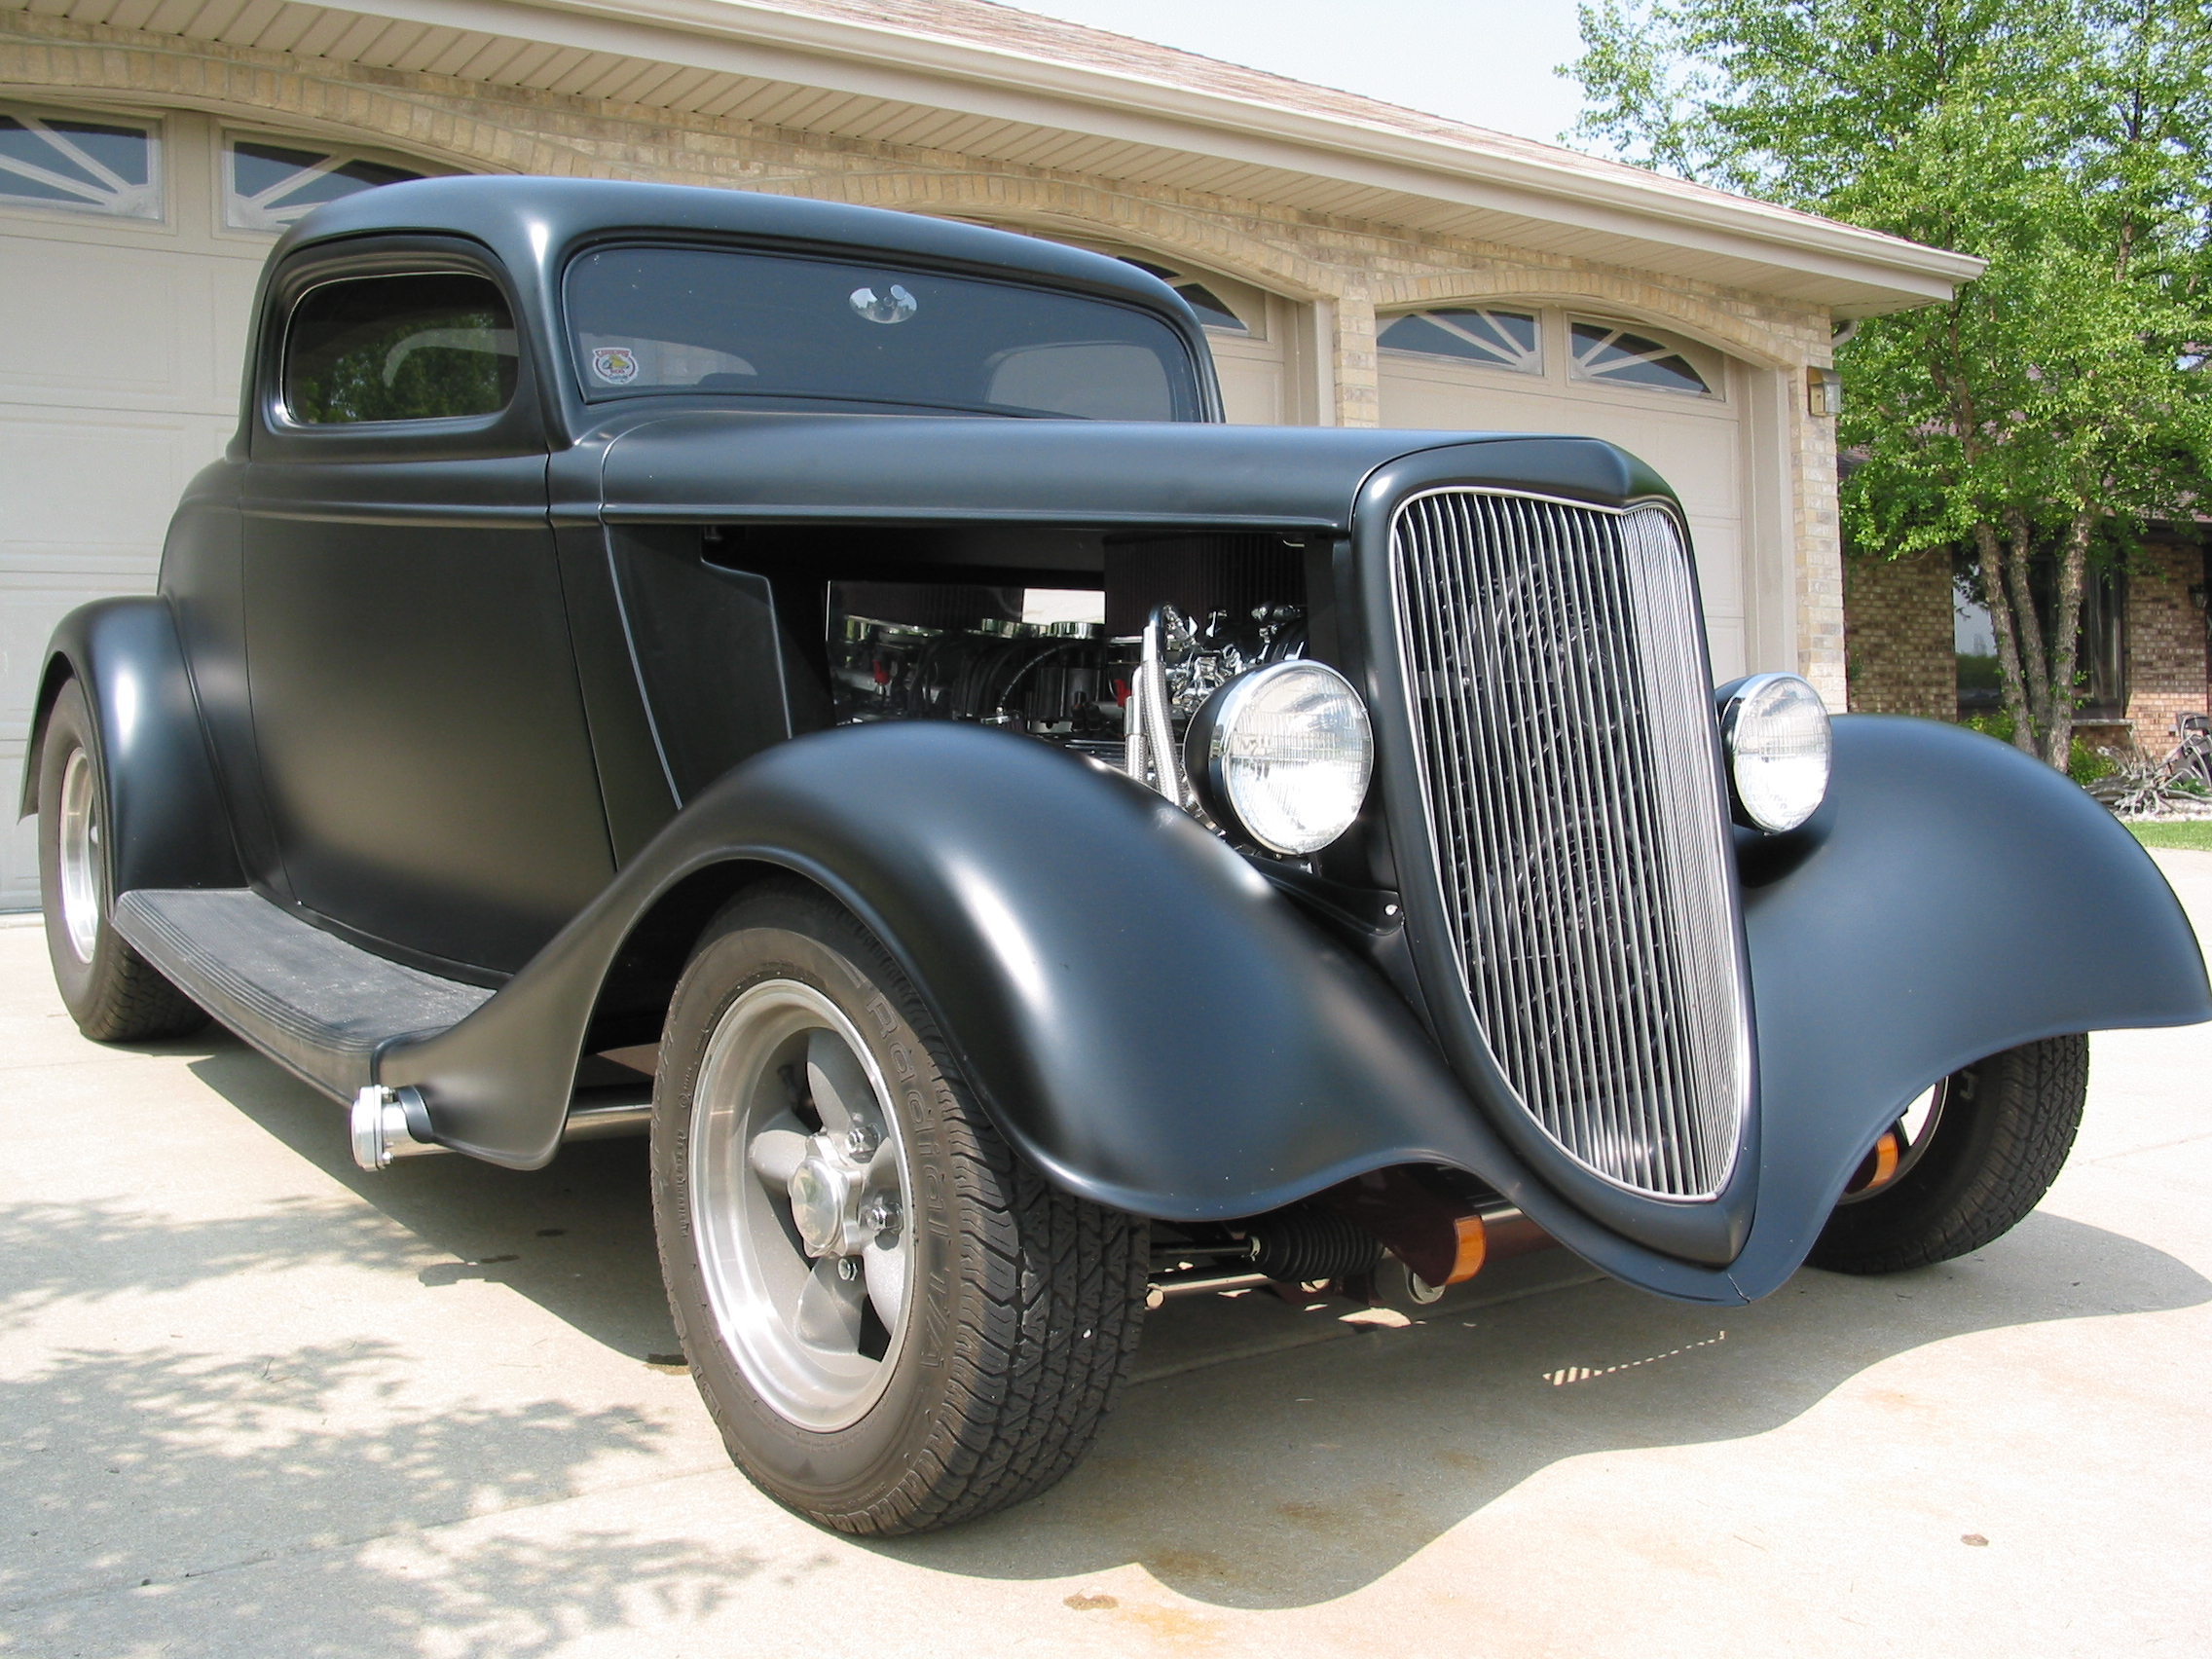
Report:
[[[1796,1270],[1922,1088],[2037,1037],[2212,1020],[2181,902],[2079,787],[1938,721],[1856,714],[1834,737],[1812,821],[1743,836],[1765,1102],[1730,1270],[1747,1296]]]

